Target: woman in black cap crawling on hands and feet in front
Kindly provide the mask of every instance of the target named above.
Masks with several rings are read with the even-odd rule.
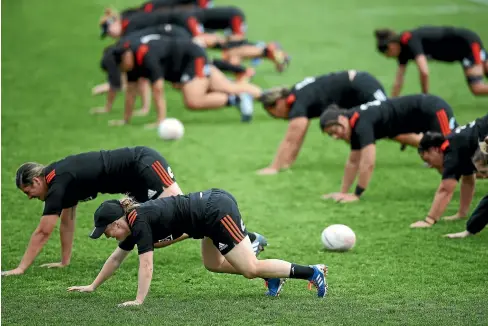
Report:
[[[109,200],[95,212],[95,229],[90,237],[102,234],[116,238],[119,246],[105,262],[92,284],[72,286],[68,291],[92,292],[106,281],[137,245],[139,286],[134,301],[121,306],[140,305],[149,291],[153,272],[153,243],[186,233],[202,239],[205,268],[217,273],[240,274],[246,278],[264,278],[267,295],[278,296],[284,279],[310,281],[318,297],[327,293],[327,267],[303,266],[277,259],[258,260],[253,254],[237,202],[228,192],[210,189],[188,195],[138,204],[130,198]]]

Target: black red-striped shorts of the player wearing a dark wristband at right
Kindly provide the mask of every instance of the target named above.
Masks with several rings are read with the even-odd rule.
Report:
[[[440,97],[428,96],[423,99],[421,110],[428,117],[424,120],[425,132],[440,132],[446,136],[458,126],[451,106]]]

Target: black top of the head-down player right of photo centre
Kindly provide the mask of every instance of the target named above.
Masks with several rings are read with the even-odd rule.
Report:
[[[331,104],[348,108],[355,102],[358,91],[351,86],[348,71],[333,72],[316,77],[306,77],[291,88],[286,99],[290,108],[288,119],[318,118]],[[361,103],[358,100],[358,103]]]

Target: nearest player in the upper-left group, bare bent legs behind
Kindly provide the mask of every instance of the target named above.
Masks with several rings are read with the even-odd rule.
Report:
[[[164,81],[181,84],[183,99],[192,110],[211,110],[235,105],[241,112],[241,121],[249,122],[253,115],[253,98],[261,95],[258,86],[235,83],[215,66],[210,65],[205,50],[188,40],[174,38],[151,39],[142,43],[135,39],[119,44],[112,52],[113,60],[127,72],[124,119],[130,122],[137,95],[137,80],[147,78],[152,84],[154,103],[157,108],[156,126],[166,118]]]

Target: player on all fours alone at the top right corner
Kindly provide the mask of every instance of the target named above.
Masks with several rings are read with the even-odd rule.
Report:
[[[400,95],[407,64],[415,60],[422,93],[429,92],[427,60],[460,62],[469,88],[474,95],[488,95],[488,58],[480,37],[475,32],[459,27],[422,26],[396,33],[389,28],[375,30],[376,45],[386,57],[397,58],[398,70],[391,96]]]

